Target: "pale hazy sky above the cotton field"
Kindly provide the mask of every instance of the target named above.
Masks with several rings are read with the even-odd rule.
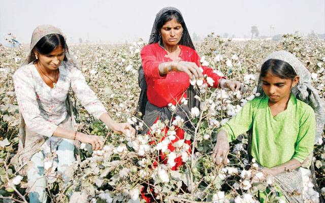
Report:
[[[30,43],[40,24],[63,30],[68,42],[79,38],[90,42],[148,40],[155,14],[174,6],[184,17],[190,34],[204,37],[210,32],[251,36],[256,25],[260,36],[277,33],[325,33],[325,0],[0,0],[0,43],[12,32],[20,42]]]

